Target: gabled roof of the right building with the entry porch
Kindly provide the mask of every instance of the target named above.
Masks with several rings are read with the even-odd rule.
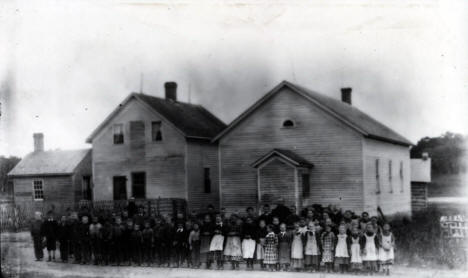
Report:
[[[271,99],[284,87],[288,87],[289,89],[291,89],[292,92],[297,93],[298,95],[309,100],[312,104],[317,105],[323,111],[331,114],[333,117],[345,123],[346,125],[361,133],[365,137],[404,146],[412,145],[412,143],[408,139],[404,138],[389,127],[385,126],[384,124],[378,122],[377,120],[362,112],[358,108],[343,103],[338,99],[334,99],[322,95],[320,93],[311,91],[304,87],[295,85],[288,81],[281,82],[270,92],[264,95],[254,105],[252,105],[250,108],[244,111],[238,118],[232,121],[231,124],[229,124],[229,126],[226,129],[224,129],[220,134],[218,134],[213,140],[218,140],[227,133],[229,133],[229,131],[231,131],[235,126],[237,126],[246,117],[252,114],[258,107],[260,107],[262,104]]]

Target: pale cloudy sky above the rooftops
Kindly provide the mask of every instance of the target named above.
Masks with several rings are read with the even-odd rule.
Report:
[[[2,1],[0,155],[31,152],[34,132],[90,147],[129,93],[166,81],[225,123],[288,80],[352,87],[414,143],[468,134],[467,31],[467,1]]]

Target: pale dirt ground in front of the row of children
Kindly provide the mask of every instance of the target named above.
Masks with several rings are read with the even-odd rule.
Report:
[[[313,278],[313,277],[356,277],[355,275],[325,274],[325,273],[293,273],[267,271],[215,271],[188,268],[156,268],[156,267],[116,267],[116,266],[82,266],[59,262],[36,262],[34,260],[32,242],[27,232],[1,234],[2,272],[11,277],[229,277],[252,278]],[[396,265],[393,277],[466,277],[463,270],[438,270],[431,268],[411,268]],[[6,276],[9,277],[9,276]]]

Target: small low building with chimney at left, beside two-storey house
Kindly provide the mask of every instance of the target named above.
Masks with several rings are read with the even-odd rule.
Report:
[[[34,141],[34,152],[8,173],[15,204],[63,212],[80,200],[92,200],[91,150],[44,151],[41,133],[34,134]]]

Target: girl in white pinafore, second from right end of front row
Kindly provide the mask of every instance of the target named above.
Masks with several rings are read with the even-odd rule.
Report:
[[[373,274],[377,270],[378,245],[374,226],[369,222],[366,225],[366,232],[361,237],[362,262],[368,274]]]

